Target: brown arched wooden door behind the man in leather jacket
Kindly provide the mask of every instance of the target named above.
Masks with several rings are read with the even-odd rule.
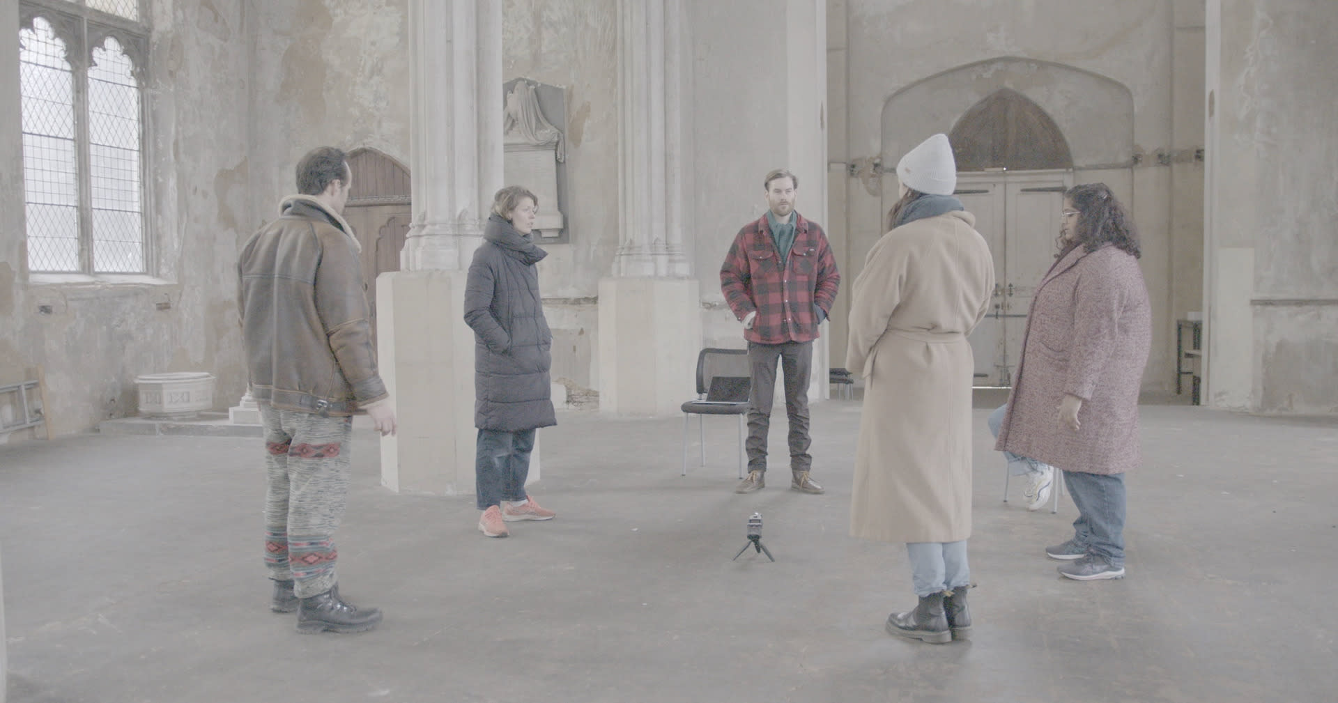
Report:
[[[409,233],[409,171],[375,148],[359,148],[348,156],[353,190],[344,219],[363,245],[363,282],[372,306],[376,333],[376,277],[400,270],[400,250]]]

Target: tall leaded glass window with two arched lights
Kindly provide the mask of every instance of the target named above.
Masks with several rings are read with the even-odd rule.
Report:
[[[147,273],[143,28],[88,11],[138,0],[68,5],[24,4],[19,29],[28,270]]]

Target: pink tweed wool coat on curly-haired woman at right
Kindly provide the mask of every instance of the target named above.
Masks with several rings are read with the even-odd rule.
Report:
[[[1137,259],[1112,245],[1070,251],[1032,299],[994,448],[1082,473],[1137,466],[1139,388],[1151,345],[1152,309]],[[1077,432],[1058,421],[1066,393],[1082,398]]]

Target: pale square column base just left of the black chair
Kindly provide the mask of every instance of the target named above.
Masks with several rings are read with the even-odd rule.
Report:
[[[599,412],[668,417],[697,397],[694,278],[599,281]]]

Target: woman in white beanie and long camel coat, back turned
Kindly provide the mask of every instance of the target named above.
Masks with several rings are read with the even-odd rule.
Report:
[[[985,317],[994,259],[953,198],[957,164],[943,135],[896,166],[891,231],[855,279],[846,368],[864,378],[850,529],[906,543],[919,604],[887,631],[966,639],[971,536],[971,378],[966,337]]]

